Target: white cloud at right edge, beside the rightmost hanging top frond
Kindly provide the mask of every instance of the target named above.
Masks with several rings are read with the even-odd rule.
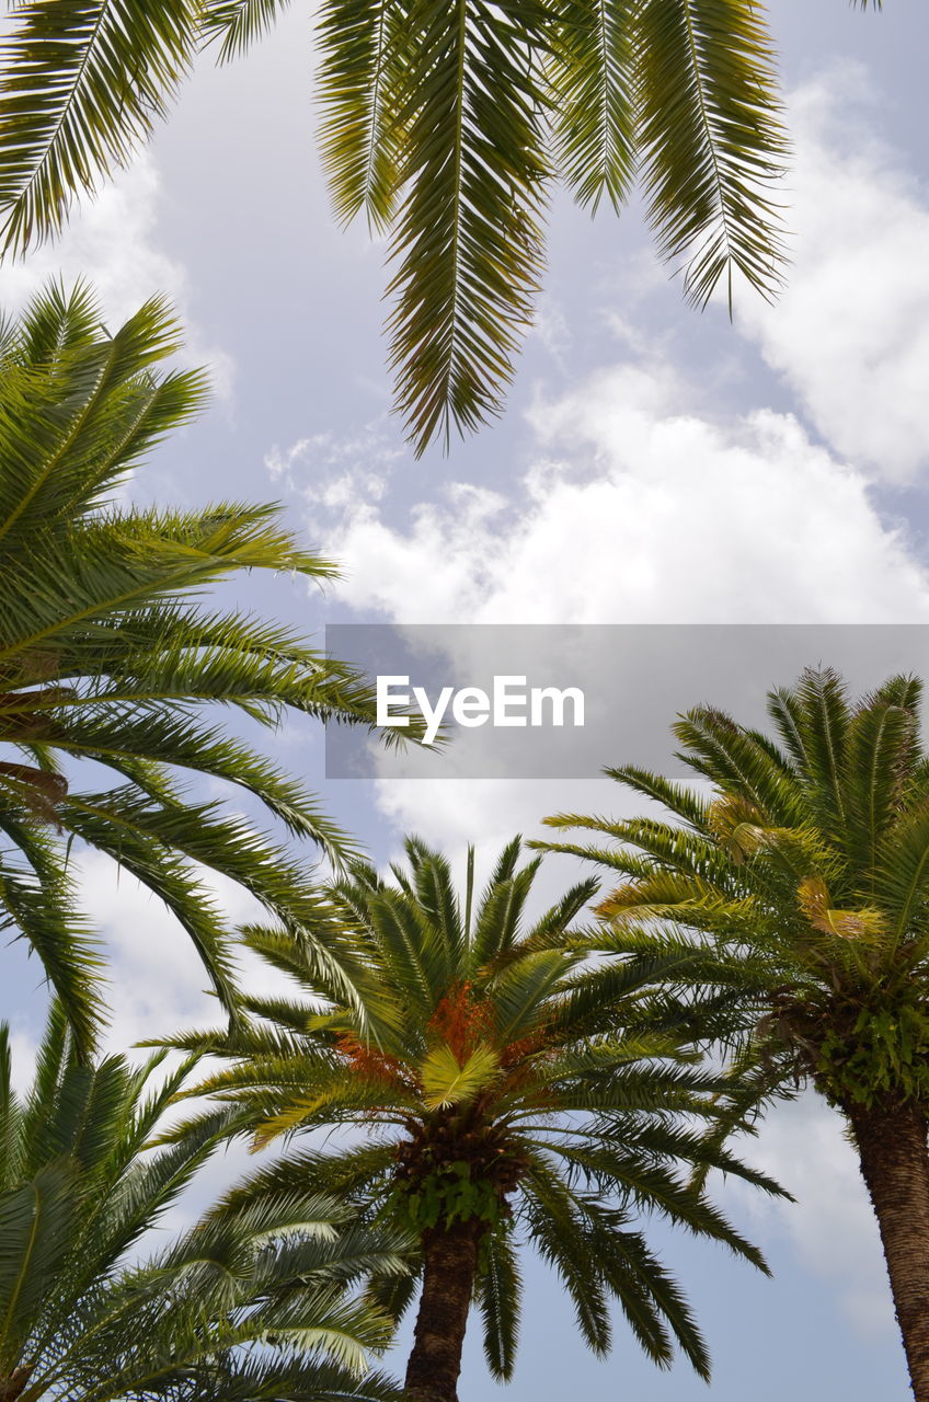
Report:
[[[843,64],[791,100],[793,265],[738,325],[834,449],[888,481],[929,461],[929,200],[874,136],[878,97]]]

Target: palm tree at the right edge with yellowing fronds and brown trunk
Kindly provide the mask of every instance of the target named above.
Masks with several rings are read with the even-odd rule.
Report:
[[[929,757],[922,686],[853,705],[831,670],[770,693],[777,739],[700,707],[674,728],[696,794],[610,770],[671,822],[561,815],[543,844],[623,876],[605,952],[724,1036],[744,1113],[810,1082],[843,1116],[880,1227],[918,1402],[929,1402]],[[606,838],[602,843],[601,838]],[[612,845],[612,844],[617,845]]]

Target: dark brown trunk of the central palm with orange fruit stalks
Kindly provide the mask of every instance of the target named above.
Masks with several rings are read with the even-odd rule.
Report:
[[[422,1294],[406,1381],[410,1402],[457,1402],[477,1237],[479,1223],[455,1223],[422,1242]]]

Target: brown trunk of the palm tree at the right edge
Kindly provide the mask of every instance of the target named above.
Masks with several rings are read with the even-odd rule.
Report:
[[[929,1147],[914,1102],[845,1108],[880,1227],[916,1402],[929,1402]]]

